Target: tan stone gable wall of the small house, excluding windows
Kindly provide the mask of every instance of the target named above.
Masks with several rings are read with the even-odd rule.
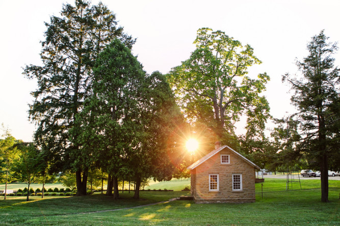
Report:
[[[221,154],[230,155],[229,164],[221,164]],[[227,148],[197,166],[192,194],[196,203],[255,202],[255,168]],[[219,191],[209,191],[209,174],[219,174]],[[232,191],[232,174],[242,174],[242,191]]]

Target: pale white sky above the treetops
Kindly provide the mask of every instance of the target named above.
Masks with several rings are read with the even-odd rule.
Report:
[[[0,123],[26,142],[32,140],[35,130],[27,111],[36,82],[23,77],[22,67],[41,64],[39,42],[44,40],[44,21],[51,15],[60,16],[66,2],[74,4],[73,0],[0,0]],[[102,2],[116,14],[124,31],[137,38],[133,52],[148,73],[167,73],[188,59],[200,27],[224,31],[242,44],[250,44],[263,64],[250,68],[249,75],[267,72],[271,77],[264,95],[275,118],[294,112],[281,75],[297,72],[295,58],[307,56],[310,38],[325,29],[330,41],[340,40],[337,0]],[[334,57],[339,65],[340,53]],[[237,133],[242,131],[238,124]]]

